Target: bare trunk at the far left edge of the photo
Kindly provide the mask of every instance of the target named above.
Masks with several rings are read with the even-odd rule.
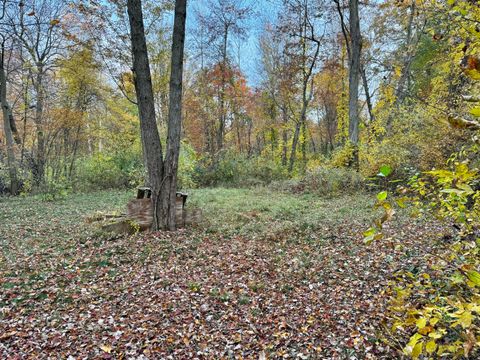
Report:
[[[7,102],[7,76],[4,67],[4,43],[0,49],[0,105],[2,106],[3,128],[5,132],[5,140],[7,143],[7,162],[8,174],[10,177],[10,194],[17,195],[19,190],[17,178],[17,166],[15,161],[14,140],[10,125],[10,105]]]

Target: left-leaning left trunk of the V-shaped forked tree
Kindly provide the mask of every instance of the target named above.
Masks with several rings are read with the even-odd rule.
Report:
[[[141,0],[127,1],[132,42],[133,75],[140,115],[140,133],[143,153],[148,171],[149,185],[152,188],[153,230],[160,229],[166,218],[162,211],[160,193],[163,186],[164,165],[162,145],[155,120],[155,102],[152,77],[148,61],[147,43],[143,25]]]

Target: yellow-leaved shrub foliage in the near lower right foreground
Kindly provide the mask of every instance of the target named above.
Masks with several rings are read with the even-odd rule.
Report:
[[[472,149],[476,153],[476,146]],[[441,250],[427,254],[427,271],[398,272],[387,290],[391,337],[408,338],[402,351],[414,359],[480,354],[480,173],[460,158],[453,156],[449,168],[409,183],[416,213],[453,223],[458,230],[452,244],[432,244]],[[394,213],[387,196],[385,191],[377,195],[385,215],[364,233],[366,243],[382,238],[382,225]]]

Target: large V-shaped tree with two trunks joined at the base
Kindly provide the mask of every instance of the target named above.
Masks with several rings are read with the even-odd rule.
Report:
[[[152,78],[145,39],[141,0],[128,0],[133,73],[140,115],[142,145],[152,188],[153,229],[175,230],[175,202],[181,135],[183,53],[186,0],[175,3],[170,75],[170,105],[165,161],[155,119]]]

